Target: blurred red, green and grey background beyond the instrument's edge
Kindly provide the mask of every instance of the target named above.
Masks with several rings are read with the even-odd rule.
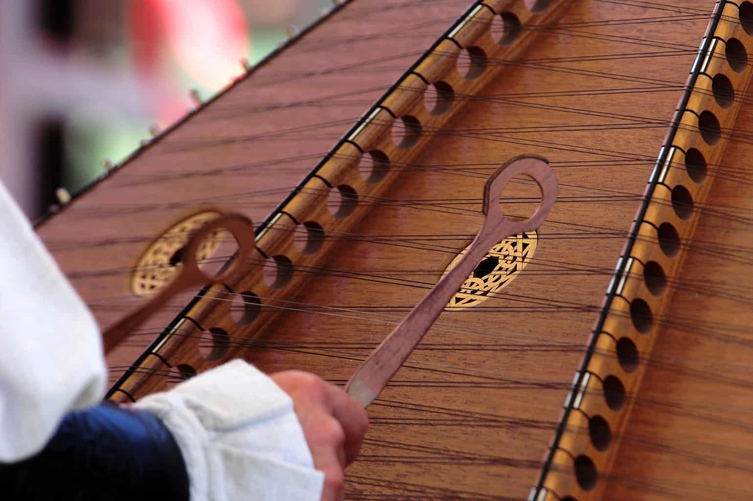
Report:
[[[0,0],[0,178],[39,218],[332,7]]]

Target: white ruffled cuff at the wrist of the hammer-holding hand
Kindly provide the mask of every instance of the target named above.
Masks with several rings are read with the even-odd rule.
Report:
[[[242,360],[136,403],[165,423],[186,463],[191,501],[319,501],[313,467],[287,393]]]

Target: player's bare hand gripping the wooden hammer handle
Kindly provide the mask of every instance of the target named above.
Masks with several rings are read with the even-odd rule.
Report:
[[[368,428],[366,411],[343,389],[314,374],[285,371],[270,377],[293,399],[314,468],[325,474],[322,501],[340,501],[344,471],[358,457]]]

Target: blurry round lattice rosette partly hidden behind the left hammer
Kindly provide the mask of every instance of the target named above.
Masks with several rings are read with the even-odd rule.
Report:
[[[188,237],[208,221],[218,218],[220,212],[214,210],[203,211],[181,219],[164,231],[143,252],[131,274],[130,286],[133,294],[143,297],[150,295],[172,280],[179,263],[175,255],[188,242]],[[203,241],[197,252],[197,260],[209,259],[219,246],[220,239],[208,238]]]

